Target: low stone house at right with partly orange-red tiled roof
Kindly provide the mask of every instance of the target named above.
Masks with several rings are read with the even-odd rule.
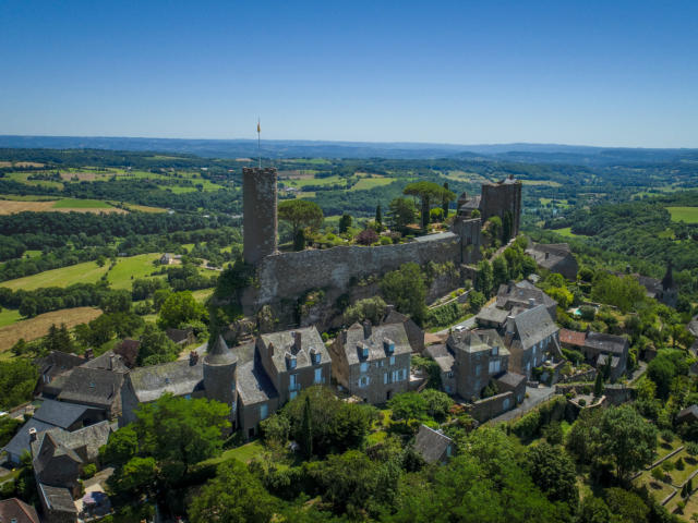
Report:
[[[605,367],[606,357],[611,357],[610,378],[612,381],[623,376],[627,369],[630,343],[623,336],[605,335],[591,330],[577,332],[561,329],[559,342],[562,346],[581,352],[585,360],[598,369]]]

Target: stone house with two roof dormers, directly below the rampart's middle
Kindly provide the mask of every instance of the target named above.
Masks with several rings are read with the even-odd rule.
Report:
[[[409,390],[411,353],[404,324],[353,324],[330,346],[333,376],[351,394],[385,403]]]

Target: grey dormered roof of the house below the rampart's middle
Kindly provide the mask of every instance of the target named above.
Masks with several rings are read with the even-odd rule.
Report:
[[[387,353],[383,343],[386,339],[395,343],[395,351],[392,355],[412,353],[412,346],[410,345],[404,324],[372,326],[369,338],[364,338],[363,326],[353,324],[347,329],[346,333],[347,341],[344,344],[344,351],[349,365],[388,357],[390,354]],[[359,357],[359,345],[363,344],[369,348],[369,357],[365,360]]]

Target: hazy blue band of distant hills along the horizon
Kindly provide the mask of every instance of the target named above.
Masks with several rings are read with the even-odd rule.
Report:
[[[203,157],[255,157],[255,139],[185,139],[85,136],[0,135],[0,147],[52,149],[157,150]],[[698,149],[604,148],[559,144],[453,145],[380,142],[280,141],[262,142],[265,158],[464,158],[520,162],[616,165],[696,161]]]

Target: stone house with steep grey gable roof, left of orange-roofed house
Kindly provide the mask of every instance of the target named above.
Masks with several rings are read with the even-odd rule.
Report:
[[[510,353],[509,368],[529,379],[531,370],[542,365],[546,358],[563,358],[559,349],[559,327],[555,325],[545,305],[509,316],[505,326],[504,342]]]

